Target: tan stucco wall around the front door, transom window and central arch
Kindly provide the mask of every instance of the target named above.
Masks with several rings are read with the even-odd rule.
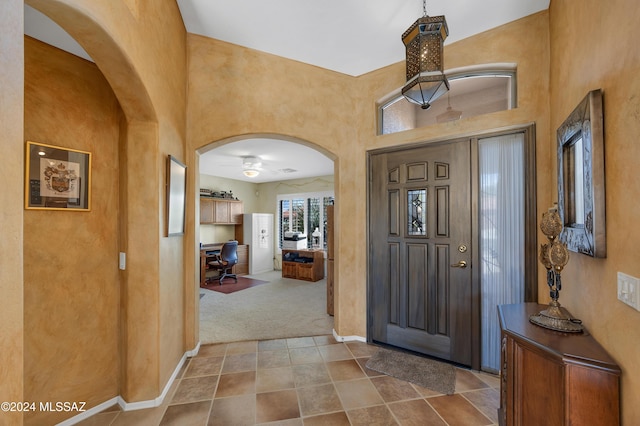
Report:
[[[189,35],[188,150],[242,135],[272,134],[310,144],[336,159],[335,327],[339,335],[364,337],[366,151],[531,122],[542,135],[539,146],[546,147],[548,46],[546,12],[452,44],[445,50],[447,68],[516,63],[518,108],[376,136],[376,100],[402,86],[402,63],[353,78]],[[538,153],[539,170],[549,168],[548,155],[546,148]],[[539,188],[548,186],[548,179],[548,173],[540,173]],[[550,197],[539,191],[544,208]]]

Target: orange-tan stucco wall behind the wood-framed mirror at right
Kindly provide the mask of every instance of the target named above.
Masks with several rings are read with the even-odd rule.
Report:
[[[550,17],[554,196],[555,129],[590,90],[602,89],[604,99],[607,258],[572,253],[560,303],[621,366],[622,424],[640,424],[640,312],[617,300],[617,272],[640,277],[640,7],[633,0],[552,1]]]

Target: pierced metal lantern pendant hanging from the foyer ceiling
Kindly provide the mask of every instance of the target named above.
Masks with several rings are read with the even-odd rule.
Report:
[[[407,83],[402,95],[422,109],[428,109],[449,90],[443,67],[443,45],[449,28],[444,15],[427,16],[426,0],[422,0],[422,9],[422,18],[402,34],[407,57]]]

